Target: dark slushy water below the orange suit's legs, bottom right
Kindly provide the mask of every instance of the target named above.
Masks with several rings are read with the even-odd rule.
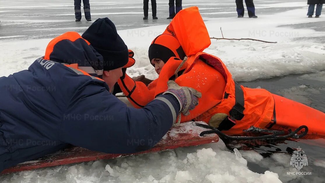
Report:
[[[279,175],[282,182],[306,183],[306,182],[324,182],[324,139],[318,140],[252,140],[252,141],[227,141],[224,140],[229,149],[254,150],[262,155],[262,161],[248,161],[248,168],[256,173],[264,173],[266,170]],[[319,145],[322,144],[322,147]],[[300,171],[290,166],[290,160],[298,147],[300,147],[307,156],[308,165]],[[242,153],[243,157],[245,153]],[[294,179],[290,177],[290,172],[308,172],[309,175],[300,175]],[[289,174],[289,175],[288,175]],[[296,173],[297,174],[297,173]]]

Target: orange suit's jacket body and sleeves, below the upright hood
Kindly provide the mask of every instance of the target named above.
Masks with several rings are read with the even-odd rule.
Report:
[[[173,79],[174,72],[181,62],[181,60],[171,58],[162,68],[158,79],[150,83],[148,87],[128,77],[129,79],[119,80],[121,89],[135,107],[145,106],[168,89],[167,81]],[[230,115],[236,102],[236,85],[227,67],[218,57],[204,52],[192,55],[181,67],[179,73],[182,74],[175,79],[178,85],[202,92],[199,105],[190,111],[190,115],[182,115],[181,122],[197,120],[209,123],[217,113],[238,118],[234,114]],[[243,117],[235,120],[236,124],[230,126],[230,130],[226,129],[228,134],[239,134],[250,126],[264,128],[271,122],[273,116],[274,100],[270,92],[242,86],[240,88],[244,99],[244,110],[239,112],[242,112]],[[238,112],[236,109],[234,111]]]

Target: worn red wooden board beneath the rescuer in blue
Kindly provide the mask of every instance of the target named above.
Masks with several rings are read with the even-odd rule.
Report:
[[[206,124],[201,121],[196,122]],[[153,148],[132,154],[107,154],[74,146],[33,161],[20,163],[15,167],[3,170],[1,174],[9,174],[13,172],[20,172],[37,168],[51,167],[78,162],[119,158],[135,154],[145,154],[149,152],[163,151],[167,149],[198,146],[201,144],[209,144],[219,141],[219,137],[217,134],[207,134],[204,136],[200,136],[200,133],[205,130],[205,128],[196,126],[195,122],[181,123],[172,127],[162,138],[162,140],[160,140]]]

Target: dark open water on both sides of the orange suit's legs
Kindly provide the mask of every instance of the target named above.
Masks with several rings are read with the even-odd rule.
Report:
[[[272,93],[284,96],[325,112],[325,71],[255,80],[252,82],[240,82],[240,84],[249,88],[261,87]],[[225,143],[227,144],[227,141],[225,141]],[[297,142],[288,140],[244,141],[239,143],[243,143],[242,146],[236,145],[236,142],[228,143],[230,144],[228,145],[230,149],[254,149],[266,160],[270,160],[271,162],[274,161],[274,159],[276,159],[278,156],[280,159],[284,158],[282,163],[277,161],[274,161],[273,163],[266,161],[259,163],[249,162],[248,167],[254,172],[262,173],[266,170],[273,171],[279,174],[280,180],[283,182],[324,182],[324,178],[320,178],[324,177],[323,175],[325,173],[324,139],[301,140]],[[298,179],[290,180],[290,178],[286,177],[288,168],[282,169],[282,167],[279,167],[279,164],[289,167],[289,159],[292,156],[292,152],[298,147],[305,151],[308,158],[308,167],[302,168],[301,172],[311,172],[311,175],[304,175]],[[317,164],[317,166],[315,164]],[[320,164],[322,164],[322,166],[320,166]]]

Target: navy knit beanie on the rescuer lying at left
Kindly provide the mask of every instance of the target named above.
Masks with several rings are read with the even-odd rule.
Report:
[[[123,67],[129,60],[129,51],[122,38],[117,34],[110,19],[97,19],[82,37],[103,56],[104,71]]]

